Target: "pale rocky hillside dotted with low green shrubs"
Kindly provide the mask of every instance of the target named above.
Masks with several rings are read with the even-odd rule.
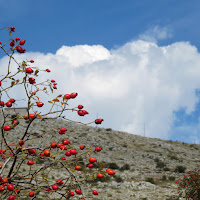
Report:
[[[20,124],[8,135],[9,142],[19,141],[27,123]],[[68,122],[62,119],[36,119],[31,125],[35,136],[46,130],[67,128],[66,139],[73,146],[85,144],[101,146],[103,150],[97,154],[98,161],[103,161],[106,167],[115,170],[116,175],[96,181],[93,189],[99,196],[93,199],[110,200],[170,200],[177,194],[175,180],[185,175],[184,172],[200,169],[200,145],[165,141],[147,138],[112,129],[91,127]],[[54,134],[54,140],[63,135]],[[50,135],[49,135],[50,136]],[[42,146],[51,143],[48,135],[40,138],[40,143],[26,143],[26,146]],[[60,178],[62,173],[54,174],[52,178]],[[76,199],[76,198],[74,198]]]

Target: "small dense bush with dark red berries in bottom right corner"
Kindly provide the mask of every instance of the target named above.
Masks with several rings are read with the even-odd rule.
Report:
[[[178,184],[178,196],[173,196],[173,199],[180,198],[190,200],[200,200],[200,170],[186,172],[186,176],[176,181]]]

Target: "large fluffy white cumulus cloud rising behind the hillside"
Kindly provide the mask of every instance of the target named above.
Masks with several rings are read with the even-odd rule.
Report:
[[[89,115],[65,112],[76,121],[91,122],[98,114],[104,119],[100,127],[140,135],[145,122],[146,136],[168,139],[174,112],[185,108],[190,114],[198,102],[195,89],[200,87],[200,54],[187,42],[158,46],[135,40],[111,50],[101,45],[77,45],[63,46],[56,54],[16,56],[18,60],[25,58],[35,60],[32,66],[52,71],[36,81],[55,79],[56,94],[78,93],[69,107],[82,104]],[[6,57],[0,60],[2,73],[7,61]],[[18,90],[12,95],[22,98]],[[42,95],[41,101],[46,99]]]

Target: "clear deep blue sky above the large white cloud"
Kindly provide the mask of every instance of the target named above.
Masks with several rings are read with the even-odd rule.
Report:
[[[16,26],[31,51],[45,53],[77,44],[111,49],[154,26],[173,32],[161,45],[190,41],[199,47],[199,5],[198,0],[0,1],[0,24]]]

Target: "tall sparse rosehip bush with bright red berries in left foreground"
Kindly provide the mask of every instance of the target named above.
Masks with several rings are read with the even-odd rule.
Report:
[[[40,137],[44,138],[48,132],[51,133],[49,134],[51,137],[48,135],[47,143],[41,147],[40,137],[35,137],[30,132],[30,127],[31,129],[35,128],[31,124],[36,120],[62,118],[72,121],[64,116],[64,111],[77,111],[76,114],[80,117],[89,114],[89,112],[82,110],[84,106],[81,104],[75,108],[67,108],[68,101],[77,98],[78,93],[55,95],[57,89],[55,80],[47,79],[38,82],[37,77],[40,74],[51,73],[51,70],[49,67],[42,70],[34,66],[34,60],[24,60],[19,63],[14,55],[15,53],[25,53],[24,46],[28,42],[19,37],[12,37],[15,27],[8,27],[7,30],[10,39],[5,43],[0,41],[1,50],[9,58],[7,74],[0,74],[0,109],[3,118],[0,140],[1,199],[93,199],[95,195],[100,193],[93,190],[90,184],[87,191],[84,191],[86,183],[115,174],[110,168],[104,170],[103,164],[95,156],[100,153],[102,147],[79,144],[76,148],[66,136],[67,127],[43,131]],[[16,65],[15,71],[11,71],[11,63]],[[24,107],[27,107],[27,114],[24,116],[16,114],[12,119],[6,115],[4,107],[12,108],[19,101],[14,99],[13,93],[10,92],[13,87],[18,89],[21,87],[20,94],[26,94]],[[39,97],[41,92],[44,94],[52,93],[54,98],[42,101]],[[49,111],[42,113],[41,109],[48,110],[48,104],[50,105]],[[59,110],[56,110],[55,106],[58,106]],[[52,114],[58,115],[52,117]],[[8,141],[9,133],[16,131],[22,121],[27,122],[24,131],[22,132],[20,129],[19,139],[13,139],[10,143]],[[102,122],[103,119],[99,118],[90,123],[101,124]],[[52,132],[59,137],[53,135]],[[58,139],[60,137],[62,139]],[[32,142],[35,140],[35,143]],[[94,163],[99,165],[98,169],[93,168]],[[55,171],[62,174],[62,178],[59,177],[56,180],[55,177],[52,178],[51,173]],[[54,174],[54,176],[56,175]]]

